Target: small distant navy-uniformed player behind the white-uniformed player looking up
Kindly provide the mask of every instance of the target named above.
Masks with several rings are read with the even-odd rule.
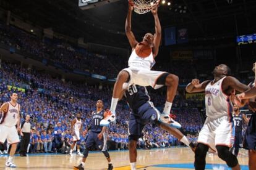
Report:
[[[240,112],[239,107],[237,105],[234,105],[233,121],[236,129],[233,154],[237,156],[239,148],[242,147],[242,125],[244,123],[248,124],[249,122],[249,120],[245,117],[244,113]]]

